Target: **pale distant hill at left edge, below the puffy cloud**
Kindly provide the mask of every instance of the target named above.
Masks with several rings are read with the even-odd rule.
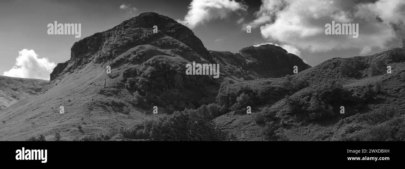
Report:
[[[34,96],[49,81],[0,76],[0,111],[15,102]]]

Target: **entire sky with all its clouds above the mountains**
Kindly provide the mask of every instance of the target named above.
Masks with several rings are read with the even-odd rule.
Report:
[[[275,44],[311,66],[381,52],[405,37],[404,0],[1,0],[0,75],[49,80],[73,43],[144,12],[188,26],[208,50]],[[54,21],[81,23],[81,37],[49,35]],[[359,37],[326,35],[332,21],[358,24]]]

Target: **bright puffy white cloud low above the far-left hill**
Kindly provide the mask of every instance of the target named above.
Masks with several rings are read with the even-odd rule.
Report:
[[[4,76],[49,80],[56,64],[47,58],[38,58],[34,50],[19,51],[15,66],[3,73]]]

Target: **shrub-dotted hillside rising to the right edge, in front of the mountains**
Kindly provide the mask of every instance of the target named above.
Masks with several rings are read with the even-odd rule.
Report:
[[[398,56],[401,60],[405,58],[403,53]],[[370,67],[378,65],[378,61],[385,64],[380,66],[381,73],[373,75]],[[348,71],[356,72],[355,76],[341,73],[346,71],[344,63],[353,66]],[[392,73],[386,73],[387,66],[392,67]],[[256,83],[267,84],[267,87],[260,85],[263,89],[283,89],[274,90],[281,96],[271,102],[254,102],[251,115],[231,112],[214,121],[240,140],[404,140],[404,72],[405,63],[395,61],[392,50],[332,58],[291,76],[309,83],[295,91],[283,85],[286,78],[259,79]],[[282,81],[281,85],[277,81]],[[257,90],[255,85],[243,89],[247,83],[251,82],[228,85],[224,88],[231,94],[222,95],[229,97],[233,93],[236,98],[245,91]],[[264,91],[259,89],[257,93]],[[253,94],[249,99],[255,98],[258,96]],[[345,107],[344,114],[340,113],[341,106]]]

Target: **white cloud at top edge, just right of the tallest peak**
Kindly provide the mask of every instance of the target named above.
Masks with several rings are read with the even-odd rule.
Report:
[[[193,0],[183,20],[177,20],[190,29],[213,19],[225,19],[230,13],[245,11],[246,6],[234,0]]]

